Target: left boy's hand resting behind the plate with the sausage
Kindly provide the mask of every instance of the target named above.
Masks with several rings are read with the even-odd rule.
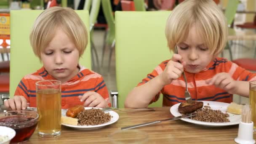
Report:
[[[78,96],[80,101],[85,101],[84,107],[108,107],[107,101],[103,97],[94,91],[88,91],[83,96]]]

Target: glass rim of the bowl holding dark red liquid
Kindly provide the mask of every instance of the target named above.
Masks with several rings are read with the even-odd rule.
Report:
[[[21,123],[17,123],[17,124],[6,124],[6,123],[2,123],[0,122],[0,124],[2,125],[5,125],[5,126],[12,126],[12,125],[25,125],[25,124],[28,124],[28,123],[34,123],[35,121],[38,120],[39,118],[39,114],[36,112],[36,111],[28,111],[28,110],[12,110],[12,111],[7,111],[7,112],[1,112],[0,114],[7,114],[7,113],[11,113],[11,112],[29,112],[29,113],[35,113],[36,114],[36,117],[33,117],[32,120],[29,120],[29,121],[25,121],[25,122],[21,122]],[[16,115],[11,115],[11,116],[16,116]],[[22,116],[22,115],[21,115]],[[27,116],[27,115],[24,115],[24,116]],[[1,118],[4,118],[4,117],[1,117]]]

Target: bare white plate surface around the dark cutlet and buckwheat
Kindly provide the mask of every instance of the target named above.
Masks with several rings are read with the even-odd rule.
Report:
[[[181,115],[181,113],[179,113],[179,111],[178,111],[179,104],[173,105],[171,107],[171,109],[170,109],[171,114],[173,116],[175,116],[175,117]],[[204,106],[207,105],[207,104],[209,104],[209,106],[212,109],[214,109],[214,110],[219,109],[223,113],[228,113],[229,114],[228,119],[230,120],[230,122],[226,122],[226,123],[210,123],[210,122],[202,122],[202,121],[192,120],[190,118],[181,118],[181,120],[183,120],[185,122],[194,123],[194,124],[197,124],[197,125],[205,125],[205,126],[237,125],[241,121],[241,115],[235,115],[235,114],[231,114],[229,112],[226,112],[227,111],[227,107],[229,106],[228,103],[218,102],[218,101],[203,101],[203,105]]]

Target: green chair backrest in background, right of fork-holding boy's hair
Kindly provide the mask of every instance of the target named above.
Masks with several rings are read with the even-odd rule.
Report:
[[[238,3],[239,3],[239,0],[229,0],[227,3],[227,7],[226,7],[224,15],[227,18],[228,26],[230,26],[232,24],[232,21],[235,18],[235,13],[237,11]]]

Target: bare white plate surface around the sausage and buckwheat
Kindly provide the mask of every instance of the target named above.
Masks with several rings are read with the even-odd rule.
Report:
[[[85,107],[85,109],[91,109],[92,107]],[[101,108],[93,108],[93,109],[101,109]],[[66,116],[66,112],[67,112],[67,109],[61,109],[61,115],[62,116]],[[61,125],[65,125],[67,127],[70,127],[70,128],[75,128],[75,129],[78,129],[78,130],[93,130],[93,129],[98,129],[98,128],[102,128],[106,125],[110,125],[112,123],[115,123],[118,119],[119,119],[119,115],[110,110],[110,111],[107,111],[105,113],[109,113],[112,117],[111,117],[111,120],[107,123],[103,123],[101,125],[67,125],[65,123],[61,123]]]

